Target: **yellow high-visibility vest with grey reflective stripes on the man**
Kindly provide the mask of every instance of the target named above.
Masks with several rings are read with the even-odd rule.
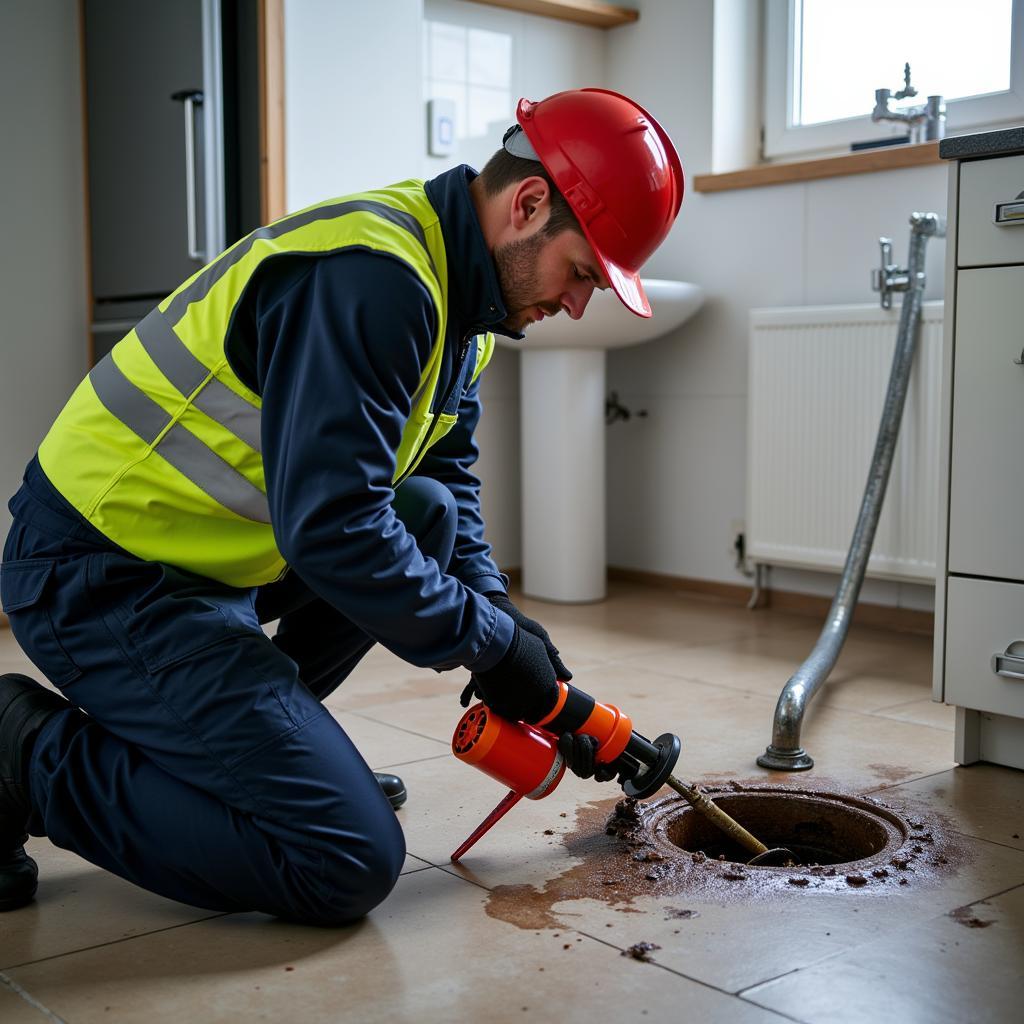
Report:
[[[39,449],[49,480],[105,537],[147,561],[232,587],[282,575],[260,453],[260,396],[233,373],[225,341],[263,261],[350,246],[409,265],[433,300],[437,333],[413,398],[392,483],[455,415],[432,413],[447,321],[447,263],[420,180],[329,200],[237,242],[150,312],[82,381]],[[372,341],[373,339],[371,339]],[[494,336],[476,339],[472,380]]]

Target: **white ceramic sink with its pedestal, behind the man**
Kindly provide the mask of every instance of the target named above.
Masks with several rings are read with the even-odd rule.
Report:
[[[644,280],[653,316],[631,313],[611,291],[586,312],[535,324],[522,350],[522,589],[570,603],[605,595],[605,354],[674,331],[700,308],[703,290]],[[649,422],[649,421],[642,421]],[[642,433],[633,443],[644,443]]]

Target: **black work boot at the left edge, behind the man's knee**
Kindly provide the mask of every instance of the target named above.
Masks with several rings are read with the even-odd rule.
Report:
[[[36,895],[39,870],[25,852],[29,754],[50,717],[70,707],[28,676],[0,676],[0,911],[25,906]]]

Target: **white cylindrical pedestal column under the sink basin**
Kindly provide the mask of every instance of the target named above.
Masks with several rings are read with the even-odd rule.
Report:
[[[601,349],[524,349],[522,589],[546,601],[605,596]]]

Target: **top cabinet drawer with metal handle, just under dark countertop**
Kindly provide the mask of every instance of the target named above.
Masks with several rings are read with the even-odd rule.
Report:
[[[1024,198],[993,223],[996,203],[1024,197],[1024,157],[968,160],[961,165],[956,262],[959,266],[1024,263]]]

